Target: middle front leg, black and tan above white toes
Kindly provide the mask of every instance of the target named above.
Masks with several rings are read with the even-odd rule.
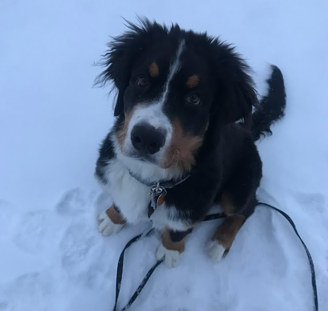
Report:
[[[185,250],[185,241],[192,229],[187,231],[172,231],[165,229],[162,235],[162,243],[157,250],[156,257],[161,260],[163,257],[166,266],[173,268],[178,266],[180,257]]]

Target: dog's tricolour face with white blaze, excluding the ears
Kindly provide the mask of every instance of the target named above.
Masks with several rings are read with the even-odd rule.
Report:
[[[184,39],[169,43],[157,42],[135,60],[117,139],[126,156],[187,168],[209,123],[214,85],[206,62]]]

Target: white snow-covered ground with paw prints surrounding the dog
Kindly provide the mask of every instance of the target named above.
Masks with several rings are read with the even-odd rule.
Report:
[[[294,219],[315,262],[328,310],[328,1],[0,1],[0,311],[108,311],[125,243],[148,224],[104,238],[109,204],[93,179],[97,147],[113,122],[93,66],[121,16],[221,35],[249,59],[260,92],[268,64],[284,73],[288,107],[259,144],[259,197]],[[131,310],[311,311],[306,253],[281,215],[259,207],[218,264],[200,225],[181,264],[159,266]],[[119,307],[155,263],[159,237],[125,256]]]

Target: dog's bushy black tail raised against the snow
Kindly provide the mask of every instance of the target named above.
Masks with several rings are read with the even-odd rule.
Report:
[[[260,107],[252,115],[254,141],[261,135],[272,135],[271,125],[285,115],[286,91],[283,74],[280,69],[272,65],[271,77],[267,80],[268,94],[262,97]]]

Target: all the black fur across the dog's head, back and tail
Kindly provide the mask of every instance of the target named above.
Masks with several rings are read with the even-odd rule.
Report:
[[[220,201],[222,193],[229,193],[236,207],[235,213],[249,217],[257,203],[256,190],[262,177],[262,162],[254,141],[265,132],[271,133],[270,125],[284,115],[286,94],[281,71],[272,66],[269,92],[259,103],[251,70],[231,45],[206,33],[182,30],[178,25],[168,28],[144,20],[141,26],[129,23],[128,27],[130,31],[109,44],[102,62],[105,70],[96,80],[100,85],[112,81],[118,90],[114,110],[118,118],[112,133],[118,131],[124,121],[124,112],[130,111],[139,97],[152,98],[162,87],[159,77],[152,81],[153,88],[149,92],[141,93],[136,89],[134,74],[143,70],[139,67],[150,63],[153,55],[171,55],[178,40],[184,38],[190,51],[187,68],[198,70],[201,80],[206,81],[200,86],[203,105],[197,108],[182,106],[182,86],[176,86],[165,109],[170,117],[180,120],[187,133],[200,135],[205,132],[207,122],[209,127],[196,154],[191,176],[168,189],[166,206],[175,206],[180,212],[177,217],[193,224],[205,217],[213,203]],[[165,44],[164,49],[161,44]],[[168,68],[170,58],[164,56],[160,68]],[[187,71],[182,70],[181,75],[193,73]],[[176,83],[179,85],[179,81]],[[244,122],[235,123],[239,119]],[[104,179],[103,166],[113,157],[113,146],[107,136],[96,167],[100,180]]]

